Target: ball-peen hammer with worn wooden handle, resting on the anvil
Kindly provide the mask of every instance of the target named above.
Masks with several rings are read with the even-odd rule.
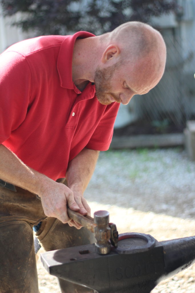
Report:
[[[96,253],[107,254],[111,250],[111,244],[114,247],[118,245],[118,231],[116,225],[109,223],[109,212],[100,210],[94,213],[94,218],[82,216],[81,214],[67,207],[68,216],[75,222],[81,224],[89,231],[94,233],[97,240],[95,243]]]

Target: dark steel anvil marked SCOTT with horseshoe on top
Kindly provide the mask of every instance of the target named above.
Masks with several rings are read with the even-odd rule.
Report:
[[[158,242],[149,234],[120,234],[108,254],[95,244],[42,253],[46,270],[96,293],[149,293],[195,262],[195,236]]]

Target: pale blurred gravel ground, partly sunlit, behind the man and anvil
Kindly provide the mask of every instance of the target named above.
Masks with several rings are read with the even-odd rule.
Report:
[[[102,152],[85,197],[92,213],[110,212],[119,233],[148,233],[158,241],[195,235],[195,162],[181,148]],[[40,260],[37,269],[40,293],[60,293]],[[195,265],[151,293],[184,292],[195,292]]]

